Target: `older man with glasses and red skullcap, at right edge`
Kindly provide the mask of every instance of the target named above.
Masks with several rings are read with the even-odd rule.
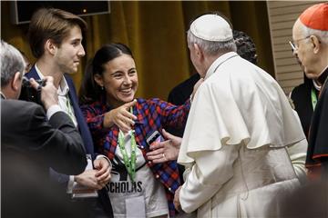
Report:
[[[306,166],[311,177],[328,174],[328,3],[307,8],[292,27],[294,54],[305,75],[321,85],[309,133]]]

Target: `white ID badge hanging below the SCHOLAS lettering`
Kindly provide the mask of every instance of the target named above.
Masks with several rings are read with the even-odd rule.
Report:
[[[127,218],[146,217],[146,204],[143,195],[126,199]]]

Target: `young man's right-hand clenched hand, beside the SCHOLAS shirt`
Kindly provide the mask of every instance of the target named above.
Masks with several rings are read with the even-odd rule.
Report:
[[[97,170],[97,183],[104,187],[110,180],[111,164],[108,159],[100,157],[94,161],[94,167]]]

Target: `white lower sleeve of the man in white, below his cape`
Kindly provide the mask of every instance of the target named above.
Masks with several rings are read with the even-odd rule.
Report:
[[[191,213],[217,192],[233,175],[232,164],[238,157],[240,145],[224,145],[217,151],[197,154],[179,193],[181,208]]]

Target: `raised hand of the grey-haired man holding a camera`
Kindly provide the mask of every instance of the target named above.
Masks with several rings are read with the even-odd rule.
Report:
[[[36,83],[36,80],[31,78],[30,83],[35,89],[41,89],[41,102],[44,104],[45,109],[49,109],[50,106],[58,104],[57,89],[54,85],[54,78],[52,76],[45,76],[45,86],[41,86]]]

